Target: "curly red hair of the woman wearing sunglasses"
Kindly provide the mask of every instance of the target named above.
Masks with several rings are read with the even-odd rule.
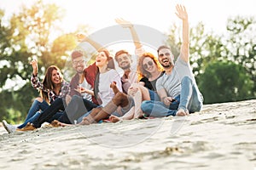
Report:
[[[156,65],[157,70],[158,71],[164,71],[164,69],[162,68],[162,66],[160,65],[158,59],[156,57],[154,57],[154,54],[151,53],[144,53],[138,61],[138,65],[137,65],[137,71],[138,71],[138,79],[140,80],[142,77],[151,77],[151,73],[146,71],[143,67],[143,60],[149,57],[150,59],[152,59],[154,61],[154,65]]]

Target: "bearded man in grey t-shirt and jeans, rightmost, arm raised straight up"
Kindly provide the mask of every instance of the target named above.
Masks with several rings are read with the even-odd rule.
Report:
[[[203,97],[196,85],[192,68],[189,65],[189,20],[186,8],[177,5],[177,17],[183,20],[183,42],[180,54],[174,64],[171,48],[158,48],[158,59],[166,71],[156,82],[157,93],[161,101],[143,101],[144,116],[186,116],[201,111]],[[178,108],[173,108],[180,98]]]

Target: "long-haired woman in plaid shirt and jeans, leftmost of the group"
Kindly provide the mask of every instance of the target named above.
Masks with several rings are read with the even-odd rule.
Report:
[[[27,122],[32,122],[40,116],[41,111],[44,111],[50,104],[52,104],[55,99],[63,97],[65,94],[69,93],[69,83],[65,82],[61,74],[60,69],[55,65],[50,65],[45,72],[43,82],[38,80],[38,61],[33,59],[30,63],[32,65],[32,87],[40,91],[40,96],[36,98],[31,108],[29,109],[26,120],[20,126],[15,127],[10,125],[5,120],[3,120],[3,127],[8,131],[8,133],[14,133],[26,126]],[[61,116],[61,112],[58,112],[51,121],[57,119]]]

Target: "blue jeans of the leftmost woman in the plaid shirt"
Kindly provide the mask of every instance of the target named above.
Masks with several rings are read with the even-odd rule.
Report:
[[[35,99],[27,113],[25,122],[22,123],[18,128],[25,127],[27,122],[31,122],[32,120],[36,119],[40,115],[40,111],[44,111],[48,106],[49,104],[45,100],[43,100],[43,102],[39,102],[37,99]]]

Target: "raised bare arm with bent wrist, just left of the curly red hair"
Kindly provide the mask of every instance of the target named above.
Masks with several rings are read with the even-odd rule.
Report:
[[[135,45],[135,48],[141,48],[143,46],[139,40],[139,37],[137,36],[137,31],[134,29],[131,22],[124,19],[116,19],[115,22],[118,23],[123,28],[129,28],[129,30],[131,31],[131,37]]]

